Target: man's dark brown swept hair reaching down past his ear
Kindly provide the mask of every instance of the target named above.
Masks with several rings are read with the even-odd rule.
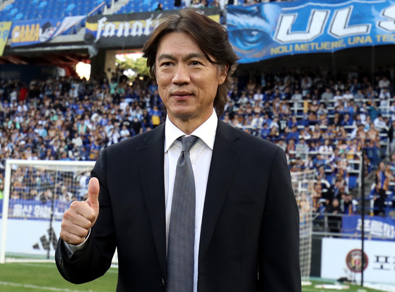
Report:
[[[164,16],[143,47],[143,57],[147,58],[151,78],[155,78],[155,59],[160,39],[171,32],[185,32],[191,35],[207,60],[216,64],[219,70],[225,71],[228,66],[225,81],[218,85],[214,99],[216,113],[222,116],[228,102],[228,92],[233,87],[232,74],[235,73],[237,61],[240,59],[232,49],[228,32],[222,25],[204,16],[197,9],[180,9],[175,14]]]

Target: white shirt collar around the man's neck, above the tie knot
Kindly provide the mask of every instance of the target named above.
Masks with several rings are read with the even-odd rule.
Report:
[[[218,125],[218,118],[216,111],[213,110],[213,114],[211,114],[210,118],[208,118],[204,123],[199,126],[196,130],[194,130],[191,135],[195,135],[199,137],[203,142],[206,143],[208,147],[213,150],[214,147],[214,140],[216,140],[216,130]],[[177,126],[175,126],[170,118],[167,116],[166,123],[165,123],[165,152],[172,147],[175,140],[179,137],[187,135],[182,130],[179,130]]]

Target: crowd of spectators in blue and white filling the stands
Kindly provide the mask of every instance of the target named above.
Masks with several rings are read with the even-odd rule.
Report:
[[[371,150],[365,163],[372,171],[384,145],[394,150],[392,73],[382,71],[371,83],[353,74],[335,82],[309,71],[238,72],[221,118],[283,148],[291,171],[317,170],[315,210],[326,201],[326,209],[353,214],[350,189],[360,167],[358,152]],[[0,80],[0,99],[2,169],[9,158],[95,160],[104,147],[165,121],[155,82],[138,76],[131,83],[121,73],[110,80]],[[59,186],[57,196],[68,192]],[[13,197],[31,196],[24,194]],[[71,197],[79,200],[83,193],[64,200]],[[383,196],[373,197],[381,206]]]

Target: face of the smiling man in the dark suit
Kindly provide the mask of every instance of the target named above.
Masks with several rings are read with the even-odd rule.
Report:
[[[160,39],[155,66],[159,95],[170,120],[204,123],[212,114],[218,85],[225,81],[225,74],[184,32],[172,32]]]

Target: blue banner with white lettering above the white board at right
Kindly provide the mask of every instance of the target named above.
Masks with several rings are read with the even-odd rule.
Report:
[[[395,219],[390,217],[365,216],[365,236],[375,236],[387,241],[395,241]],[[360,215],[344,216],[342,219],[342,233],[360,234],[362,218]],[[372,238],[374,239],[374,238]]]

